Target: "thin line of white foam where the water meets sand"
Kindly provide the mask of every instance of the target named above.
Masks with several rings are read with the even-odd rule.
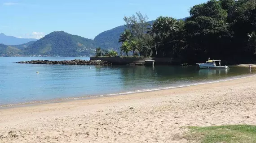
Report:
[[[256,75],[253,75],[253,76],[256,76]],[[186,85],[164,87],[164,88],[141,89],[141,90],[135,90],[135,91],[130,91],[130,92],[105,94],[105,95],[98,95],[98,96],[93,96],[93,97],[106,97],[106,96],[124,95],[124,94],[132,94],[132,93],[142,93],[142,92],[150,92],[150,91],[172,89],[172,88],[182,88],[182,87],[193,86],[193,85],[211,84],[211,83],[217,83],[217,82],[223,82],[223,81],[229,81],[229,80],[244,79],[244,78],[253,77],[253,76],[243,76],[243,77],[231,78],[231,79],[226,79],[226,80],[208,81],[208,82],[202,82],[202,83],[197,83],[197,84],[186,84]]]

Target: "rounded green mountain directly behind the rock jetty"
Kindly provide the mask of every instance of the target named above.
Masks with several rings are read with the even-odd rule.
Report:
[[[24,55],[48,56],[84,56],[94,52],[93,40],[64,31],[52,32],[22,50]]]

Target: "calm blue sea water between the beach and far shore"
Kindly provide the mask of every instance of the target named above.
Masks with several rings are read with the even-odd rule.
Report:
[[[199,70],[195,66],[106,67],[13,63],[36,59],[89,60],[88,57],[0,57],[0,105],[172,88],[255,73],[248,67]]]

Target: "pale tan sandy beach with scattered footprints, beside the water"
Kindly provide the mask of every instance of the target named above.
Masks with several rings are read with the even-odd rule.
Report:
[[[256,125],[256,76],[0,109],[0,143],[188,143],[186,126]]]

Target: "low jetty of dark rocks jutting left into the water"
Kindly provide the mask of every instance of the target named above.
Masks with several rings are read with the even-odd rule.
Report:
[[[32,61],[21,61],[17,63],[30,63],[30,64],[66,64],[66,65],[112,65],[110,62],[102,60],[65,60],[65,61],[49,61],[49,60],[32,60]]]

